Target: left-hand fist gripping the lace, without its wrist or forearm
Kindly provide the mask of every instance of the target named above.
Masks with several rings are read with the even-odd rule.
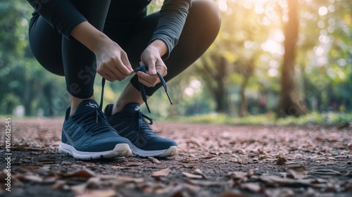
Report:
[[[96,72],[109,82],[122,81],[133,74],[127,53],[111,39],[106,37],[94,51],[96,56]]]

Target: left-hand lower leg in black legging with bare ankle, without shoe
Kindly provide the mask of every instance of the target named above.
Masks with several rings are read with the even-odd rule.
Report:
[[[103,30],[110,0],[75,0],[73,4],[91,25],[98,30]],[[70,94],[70,114],[73,115],[82,101],[94,99],[93,86],[96,76],[96,61],[94,53],[75,39],[63,38],[62,51],[66,89]]]

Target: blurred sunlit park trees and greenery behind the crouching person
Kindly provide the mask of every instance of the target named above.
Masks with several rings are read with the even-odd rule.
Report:
[[[351,0],[215,2],[222,12],[218,38],[168,82],[174,105],[163,89],[150,99],[153,117],[351,120]],[[153,0],[149,12],[161,3]],[[27,39],[32,11],[26,1],[0,1],[0,114],[61,116],[69,105],[65,80],[32,56]],[[115,101],[127,82],[108,82],[104,103]]]

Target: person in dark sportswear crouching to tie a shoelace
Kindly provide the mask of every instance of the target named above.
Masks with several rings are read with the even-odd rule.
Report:
[[[177,143],[153,132],[140,106],[213,43],[220,29],[217,4],[165,0],[147,14],[151,0],[27,2],[34,8],[32,53],[46,70],[65,76],[70,98],[58,151],[80,160],[176,155]],[[102,83],[134,75],[104,111],[94,97],[96,72]]]

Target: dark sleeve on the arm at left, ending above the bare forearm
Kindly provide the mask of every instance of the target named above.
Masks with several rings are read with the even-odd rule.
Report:
[[[69,0],[27,1],[54,29],[68,39],[74,27],[87,21]]]

